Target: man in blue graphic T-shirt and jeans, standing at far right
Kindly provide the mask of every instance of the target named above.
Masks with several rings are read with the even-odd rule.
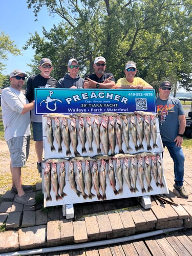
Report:
[[[169,96],[171,89],[172,85],[169,81],[163,81],[159,86],[159,97],[156,99],[159,129],[163,147],[167,147],[174,161],[175,189],[173,192],[179,197],[188,198],[188,193],[183,186],[185,157],[182,143],[186,126],[185,112],[181,101]]]

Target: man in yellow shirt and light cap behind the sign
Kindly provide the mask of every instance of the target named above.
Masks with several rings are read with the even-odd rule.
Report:
[[[115,89],[153,89],[153,87],[142,78],[135,77],[137,73],[135,62],[128,61],[125,65],[124,73],[126,77],[117,80]]]

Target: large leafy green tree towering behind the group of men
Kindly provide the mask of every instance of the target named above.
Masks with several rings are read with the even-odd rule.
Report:
[[[154,87],[167,78],[177,81],[183,63],[184,72],[188,75],[191,72],[190,0],[27,0],[27,3],[34,8],[36,17],[46,6],[50,15],[62,19],[50,32],[44,29],[43,40],[35,35],[26,45],[32,44],[37,54],[51,54],[57,63],[56,75],[63,71],[58,67],[66,65],[71,57],[80,61],[82,73],[92,73],[93,60],[99,55],[106,58],[106,70],[116,80],[124,75],[127,60],[137,62],[139,76]]]

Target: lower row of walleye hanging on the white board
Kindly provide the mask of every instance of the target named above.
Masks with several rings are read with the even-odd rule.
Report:
[[[55,193],[56,200],[70,195],[70,191],[66,191],[68,194],[63,191],[66,181],[69,181],[71,189],[78,197],[82,195],[83,199],[92,199],[97,196],[98,200],[106,200],[107,177],[115,195],[123,193],[123,183],[131,193],[141,191],[144,194],[152,191],[152,179],[155,180],[154,184],[157,187],[164,187],[163,167],[159,154],[117,154],[114,157],[98,156],[95,159],[74,157],[69,161],[60,159],[57,163],[54,160],[48,159],[45,162],[46,201],[52,201],[51,189]],[[116,183],[118,183],[118,190]],[[96,195],[92,193],[92,187]]]

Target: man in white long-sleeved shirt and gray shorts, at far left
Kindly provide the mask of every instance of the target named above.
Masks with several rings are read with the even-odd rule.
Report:
[[[26,192],[32,191],[32,186],[22,185],[22,167],[29,155],[30,141],[30,110],[34,109],[34,100],[29,103],[22,88],[27,74],[16,69],[10,73],[11,86],[2,91],[1,105],[4,124],[4,137],[10,152],[10,170],[12,175],[12,193],[17,193],[14,202],[33,206],[35,199]]]

